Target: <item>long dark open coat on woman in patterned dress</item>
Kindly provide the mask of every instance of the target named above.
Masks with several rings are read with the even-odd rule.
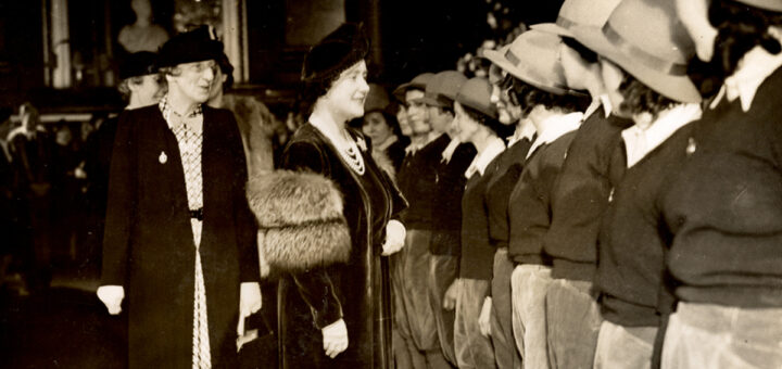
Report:
[[[203,114],[200,249],[212,365],[234,368],[239,287],[260,278],[256,226],[234,115],[207,106]],[[101,283],[125,288],[130,368],[192,366],[194,263],[176,137],[157,105],[125,112],[111,162]]]

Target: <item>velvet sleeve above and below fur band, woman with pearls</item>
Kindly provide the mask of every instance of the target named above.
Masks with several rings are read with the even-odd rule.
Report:
[[[283,153],[282,168],[312,171],[329,177],[330,166],[325,154],[312,142],[291,143]],[[342,306],[335,293],[327,268],[312,268],[291,273],[299,293],[310,305],[315,326],[319,329],[342,318]]]

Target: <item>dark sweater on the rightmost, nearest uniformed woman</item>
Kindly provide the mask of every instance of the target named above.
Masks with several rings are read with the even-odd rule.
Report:
[[[679,298],[782,306],[782,68],[748,112],[722,101],[695,123],[695,153],[664,198]]]

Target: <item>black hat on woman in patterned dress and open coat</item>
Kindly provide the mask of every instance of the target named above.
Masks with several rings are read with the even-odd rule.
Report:
[[[217,40],[212,29],[201,26],[174,36],[164,43],[157,55],[157,66],[175,66],[205,60],[217,61],[222,55],[223,42]]]

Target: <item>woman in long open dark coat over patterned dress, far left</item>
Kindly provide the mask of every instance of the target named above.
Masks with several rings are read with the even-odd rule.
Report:
[[[168,93],[117,127],[98,296],[111,314],[125,297],[130,368],[236,368],[240,306],[261,297],[241,137],[202,105],[220,49],[193,33],[168,42]]]

